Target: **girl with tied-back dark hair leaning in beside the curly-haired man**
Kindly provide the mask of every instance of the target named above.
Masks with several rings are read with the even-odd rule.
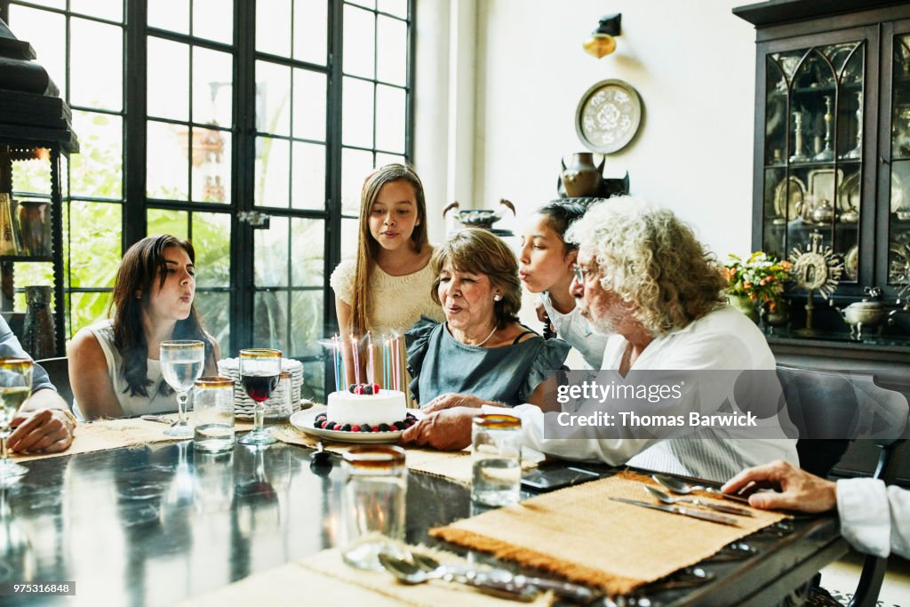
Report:
[[[581,352],[586,365],[600,369],[607,336],[594,333],[570,292],[578,246],[563,236],[585,208],[571,202],[552,202],[537,209],[521,234],[519,278],[531,293],[541,294],[549,322],[561,339]]]

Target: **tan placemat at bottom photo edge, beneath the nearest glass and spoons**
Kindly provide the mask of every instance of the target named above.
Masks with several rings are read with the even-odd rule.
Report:
[[[420,551],[429,552],[424,548]],[[440,561],[463,563],[454,554],[442,554]],[[514,601],[482,594],[463,584],[440,582],[406,586],[395,582],[387,572],[366,572],[352,569],[341,561],[337,549],[317,552],[300,561],[288,562],[267,572],[255,573],[248,578],[228,584],[217,591],[179,603],[181,607],[226,607],[238,605],[268,605],[268,607],[299,607],[304,604],[319,605],[369,605],[392,607],[514,607]],[[541,595],[535,602],[521,603],[549,605],[550,595]]]

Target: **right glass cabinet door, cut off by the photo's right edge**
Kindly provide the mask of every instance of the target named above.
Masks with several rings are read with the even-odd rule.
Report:
[[[887,281],[900,287],[910,282],[910,34],[893,44]]]

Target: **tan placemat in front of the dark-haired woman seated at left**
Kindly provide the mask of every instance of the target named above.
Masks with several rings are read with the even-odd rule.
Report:
[[[177,417],[177,415],[175,414],[172,417]],[[241,432],[251,430],[252,427],[252,423],[246,421],[238,421],[235,424],[235,429]],[[13,453],[10,454],[10,459],[15,461],[38,460],[60,455],[88,453],[89,451],[135,447],[147,442],[183,440],[165,436],[167,428],[167,424],[138,418],[80,423],[76,426],[76,431],[73,433],[73,444],[70,445],[69,449],[58,453]]]

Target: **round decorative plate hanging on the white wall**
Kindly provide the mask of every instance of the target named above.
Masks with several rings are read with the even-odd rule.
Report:
[[[626,147],[642,124],[642,100],[622,80],[591,86],[575,110],[575,131],[593,152],[612,154]]]

